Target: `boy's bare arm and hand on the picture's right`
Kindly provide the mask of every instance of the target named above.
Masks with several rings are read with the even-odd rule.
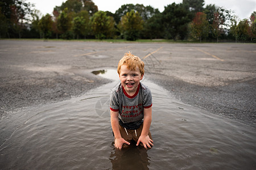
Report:
[[[152,107],[144,108],[144,121],[143,121],[143,128],[141,132],[141,136],[138,139],[137,146],[139,142],[142,142],[144,148],[151,148],[153,145],[152,139],[148,136],[148,131],[150,129],[151,121],[152,121]]]

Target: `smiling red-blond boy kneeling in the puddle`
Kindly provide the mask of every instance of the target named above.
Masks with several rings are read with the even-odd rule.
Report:
[[[134,140],[137,146],[140,144],[144,148],[151,148],[152,96],[150,90],[140,82],[144,75],[144,63],[129,52],[119,61],[117,72],[121,83],[114,87],[110,96],[115,147],[127,147]]]

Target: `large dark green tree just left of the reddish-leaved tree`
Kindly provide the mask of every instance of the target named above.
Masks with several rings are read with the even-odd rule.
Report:
[[[185,39],[188,32],[189,11],[183,4],[168,5],[162,12],[162,24],[166,39]]]

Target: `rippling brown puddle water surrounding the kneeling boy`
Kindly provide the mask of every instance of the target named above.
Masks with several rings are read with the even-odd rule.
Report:
[[[109,95],[117,83],[1,117],[1,169],[255,169],[255,129],[183,104],[147,80],[154,147],[115,150]]]

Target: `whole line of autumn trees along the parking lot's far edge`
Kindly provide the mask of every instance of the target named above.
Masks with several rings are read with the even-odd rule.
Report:
[[[2,0],[0,38],[256,41],[255,11],[237,22],[232,10],[204,5],[183,0],[160,12],[126,4],[112,13],[98,11],[92,0],[67,0],[39,18],[40,11],[26,0]]]

